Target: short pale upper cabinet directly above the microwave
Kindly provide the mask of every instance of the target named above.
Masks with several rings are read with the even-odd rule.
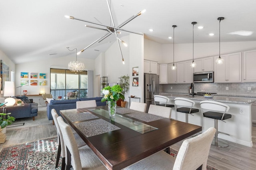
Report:
[[[194,61],[196,62],[194,73],[202,71],[213,71],[213,57],[195,59]]]

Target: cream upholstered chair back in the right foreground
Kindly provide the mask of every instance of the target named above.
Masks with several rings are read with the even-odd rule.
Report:
[[[206,170],[206,164],[210,151],[210,146],[216,129],[211,127],[204,133],[182,143],[176,157],[173,170],[196,170],[202,165],[202,170]]]

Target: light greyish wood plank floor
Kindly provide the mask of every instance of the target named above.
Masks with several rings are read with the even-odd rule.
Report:
[[[46,110],[46,108],[45,108]],[[45,111],[46,114],[46,111]],[[0,144],[2,147],[20,144],[28,141],[57,136],[56,128],[52,124],[38,125],[32,127],[20,127],[6,132],[6,142]],[[179,150],[183,141],[171,147]],[[255,170],[256,169],[256,127],[252,127],[252,148],[228,142],[227,148],[211,146],[208,164],[219,170]]]

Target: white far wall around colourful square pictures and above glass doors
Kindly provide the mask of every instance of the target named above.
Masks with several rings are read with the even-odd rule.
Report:
[[[52,58],[48,60],[41,60],[36,62],[28,62],[28,63],[21,63],[16,64],[16,72],[15,72],[15,87],[20,86],[20,72],[28,72],[29,74],[32,73],[46,73],[46,86],[45,86],[45,93],[50,93],[50,68],[62,68],[67,69],[68,63],[70,61],[75,61],[76,57],[72,56],[65,56],[59,58]],[[80,59],[78,61],[82,61],[85,65],[85,70],[94,70],[94,60],[93,59]],[[28,79],[28,80],[42,80],[39,79]],[[30,81],[29,81],[30,82]],[[38,95],[40,90],[44,88],[43,86],[39,86],[39,82],[37,86],[23,86],[23,90],[28,90],[28,95]],[[20,88],[15,90],[16,95],[20,95]]]

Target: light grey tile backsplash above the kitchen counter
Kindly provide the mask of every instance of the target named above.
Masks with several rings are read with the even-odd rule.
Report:
[[[188,93],[190,84],[160,84],[160,92]],[[194,83],[194,92],[256,95],[256,83]]]

